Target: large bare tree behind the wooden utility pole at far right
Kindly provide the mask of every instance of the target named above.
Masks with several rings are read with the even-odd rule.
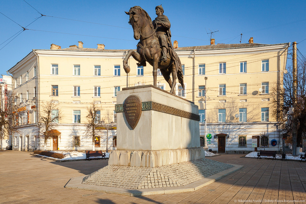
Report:
[[[302,56],[303,57],[303,56]],[[283,134],[292,135],[293,114],[297,118],[297,151],[300,150],[302,135],[306,132],[306,59],[297,62],[297,106],[293,109],[293,67],[287,67],[280,87],[273,87],[272,115],[279,121]],[[292,137],[292,136],[291,136]],[[298,153],[293,153],[293,155]]]

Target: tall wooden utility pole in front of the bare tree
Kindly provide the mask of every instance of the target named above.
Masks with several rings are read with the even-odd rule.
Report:
[[[293,117],[292,117],[292,155],[297,156],[297,42],[293,42]]]

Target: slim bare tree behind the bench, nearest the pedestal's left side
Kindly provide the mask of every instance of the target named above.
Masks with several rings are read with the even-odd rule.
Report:
[[[101,127],[100,120],[101,120],[101,107],[98,107],[98,104],[93,102],[90,107],[87,108],[88,115],[87,123],[86,123],[86,132],[92,138],[92,150],[95,150],[95,137],[99,132],[100,129],[96,129],[96,127]]]

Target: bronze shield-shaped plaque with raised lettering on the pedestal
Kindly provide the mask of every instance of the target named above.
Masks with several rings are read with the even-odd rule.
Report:
[[[134,129],[141,116],[141,100],[136,95],[130,95],[124,102],[124,114],[132,129]]]

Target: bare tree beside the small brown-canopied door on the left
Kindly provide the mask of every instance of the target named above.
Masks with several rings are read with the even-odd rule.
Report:
[[[39,108],[39,135],[44,139],[43,149],[47,149],[47,140],[52,137],[50,130],[55,129],[57,123],[62,118],[62,112],[54,101],[42,103]]]

